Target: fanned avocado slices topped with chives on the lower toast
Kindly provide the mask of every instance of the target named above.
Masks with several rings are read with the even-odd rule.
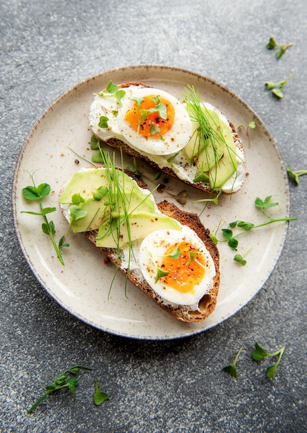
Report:
[[[148,190],[115,167],[82,169],[73,174],[59,199],[75,233],[98,230],[96,245],[122,246],[180,224],[160,214]]]

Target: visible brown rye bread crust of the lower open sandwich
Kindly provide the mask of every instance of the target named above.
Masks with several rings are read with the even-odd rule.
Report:
[[[147,186],[140,182],[132,172],[127,169],[124,169],[124,172],[133,178],[133,180],[136,181],[141,188],[147,188]],[[151,299],[154,300],[158,306],[167,311],[167,313],[176,317],[176,319],[183,320],[183,322],[202,322],[212,313],[212,311],[214,311],[216,306],[218,289],[220,286],[220,259],[218,248],[209,235],[210,230],[204,227],[198,214],[181,210],[174,203],[170,203],[169,201],[162,201],[161,203],[158,203],[157,206],[162,214],[171,216],[171,218],[176,219],[179,221],[179,223],[187,225],[189,228],[194,230],[194,232],[198,234],[198,237],[201,238],[203,243],[205,243],[205,246],[210,252],[210,255],[214,261],[216,275],[213,280],[213,286],[210,292],[206,293],[198,302],[198,311],[192,311],[189,306],[185,305],[174,306],[167,304],[167,301],[163,300],[162,297],[160,297],[160,295],[158,295],[154,289],[149,286],[145,278],[142,276],[140,270],[130,270],[127,274],[127,269],[122,269],[120,267],[121,259],[118,259],[118,251],[116,248],[97,248],[99,248],[104,255],[106,255],[106,257],[109,257],[111,262],[118,268],[118,270],[120,270],[124,275],[127,275],[133,284],[135,284],[138,288],[140,288],[140,290],[151,297]],[[91,230],[89,232],[85,232],[84,234],[95,245],[97,230]]]

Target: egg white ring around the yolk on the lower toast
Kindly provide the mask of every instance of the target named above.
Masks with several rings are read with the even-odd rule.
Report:
[[[183,293],[176,291],[171,286],[162,283],[162,279],[155,282],[157,266],[160,267],[165,250],[175,243],[189,242],[201,251],[205,257],[205,275],[203,280],[194,286],[194,290]],[[214,261],[210,252],[205,247],[203,241],[198,235],[186,225],[183,230],[157,230],[151,232],[140,244],[139,252],[140,270],[145,280],[151,288],[158,293],[163,299],[171,304],[194,305],[197,304],[203,295],[208,293],[213,286],[213,279],[216,275]]]

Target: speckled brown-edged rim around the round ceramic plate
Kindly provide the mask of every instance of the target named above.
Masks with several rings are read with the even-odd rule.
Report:
[[[16,203],[17,203],[17,180],[19,177],[19,170],[20,170],[24,155],[28,151],[28,147],[30,147],[31,138],[32,138],[33,134],[35,133],[35,131],[37,130],[37,128],[39,128],[39,125],[41,124],[42,120],[44,120],[44,118],[48,115],[49,111],[52,111],[53,109],[55,109],[55,107],[57,107],[57,104],[59,102],[68,98],[68,96],[71,93],[77,91],[77,89],[80,89],[80,87],[86,86],[86,84],[93,82],[93,80],[101,80],[102,77],[107,79],[107,77],[112,77],[112,75],[114,75],[114,74],[118,74],[121,72],[127,73],[127,71],[131,71],[131,73],[133,73],[133,74],[138,74],[138,71],[142,71],[142,74],[140,74],[140,75],[144,75],[144,74],[146,75],[145,71],[147,71],[147,73],[149,75],[152,71],[160,71],[161,76],[163,76],[163,73],[167,73],[167,74],[169,74],[171,72],[181,73],[181,74],[185,75],[186,77],[192,77],[192,79],[194,81],[196,80],[196,81],[200,81],[200,82],[207,82],[212,86],[216,86],[216,88],[219,91],[225,92],[228,95],[228,97],[230,98],[230,100],[233,99],[234,101],[236,101],[236,103],[241,104],[241,106],[243,107],[243,110],[247,111],[248,114],[250,116],[252,116],[252,118],[254,118],[254,120],[257,121],[257,125],[259,125],[259,128],[261,128],[261,131],[263,132],[264,136],[266,136],[266,138],[270,142],[270,146],[272,147],[272,151],[276,156],[276,162],[278,163],[278,165],[280,166],[280,168],[283,172],[283,175],[282,175],[283,185],[282,185],[282,187],[283,187],[283,193],[284,193],[283,198],[285,199],[284,209],[286,211],[286,215],[283,215],[283,216],[286,216],[286,217],[289,216],[289,214],[290,214],[290,194],[289,194],[289,187],[288,187],[288,176],[286,174],[286,166],[283,163],[283,158],[281,156],[281,153],[279,152],[279,149],[277,147],[277,144],[276,144],[274,138],[272,138],[270,132],[266,128],[266,125],[263,123],[263,121],[259,118],[259,116],[257,116],[257,113],[255,113],[254,110],[252,110],[246,102],[244,102],[238,95],[236,95],[236,93],[232,92],[230,89],[227,88],[227,86],[217,82],[216,80],[213,80],[212,78],[205,77],[204,75],[201,75],[199,73],[194,73],[192,71],[188,71],[188,70],[185,70],[183,68],[177,68],[177,67],[173,67],[173,66],[145,64],[145,65],[132,65],[132,66],[123,66],[121,68],[113,68],[111,70],[103,71],[100,74],[93,75],[92,77],[89,77],[86,80],[83,80],[82,82],[76,84],[75,86],[72,86],[70,89],[68,89],[67,91],[62,93],[62,95],[59,95],[59,97],[56,98],[46,108],[46,110],[41,114],[41,116],[37,119],[35,124],[30,129],[28,136],[26,137],[24,145],[21,148],[21,151],[19,153],[19,157],[17,159],[17,164],[15,167],[13,190],[12,190],[12,208],[13,208],[15,230],[17,232],[17,238],[19,240],[21,250],[24,253],[24,257],[26,258],[26,261],[28,262],[28,265],[30,266],[32,273],[34,273],[35,277],[37,278],[37,280],[39,281],[41,286],[44,287],[44,289],[47,291],[47,293],[49,293],[49,295],[51,297],[53,297],[53,299],[55,299],[63,308],[65,308],[67,311],[69,311],[75,317],[78,317],[80,320],[90,324],[91,326],[94,326],[98,329],[101,329],[102,331],[106,331],[106,332],[113,333],[115,335],[120,335],[123,337],[138,338],[141,340],[171,340],[174,338],[183,338],[183,337],[187,337],[189,335],[195,335],[197,333],[201,333],[207,329],[212,328],[213,326],[220,324],[221,322],[225,321],[227,318],[234,315],[237,311],[239,311],[241,308],[243,308],[243,306],[245,306],[245,304],[247,304],[250,300],[252,300],[254,295],[256,295],[259,292],[259,290],[263,286],[263,284],[266,283],[266,280],[268,279],[268,277],[272,273],[272,270],[275,268],[275,265],[277,264],[277,261],[279,259],[280,254],[281,254],[281,250],[283,248],[283,243],[286,239],[288,224],[285,224],[281,230],[281,237],[279,239],[279,245],[278,245],[278,248],[275,249],[274,259],[272,262],[272,266],[270,266],[270,270],[268,270],[268,272],[266,272],[266,275],[263,275],[261,282],[258,284],[257,288],[250,294],[250,296],[248,296],[248,299],[243,300],[243,302],[241,304],[239,304],[239,306],[234,307],[232,309],[232,311],[229,311],[227,314],[223,315],[223,317],[220,317],[219,319],[217,318],[213,322],[210,322],[210,320],[207,319],[207,320],[205,320],[205,322],[203,322],[202,326],[189,327],[189,325],[188,325],[187,329],[183,329],[183,327],[180,324],[178,331],[175,331],[175,332],[172,332],[169,334],[165,334],[165,335],[158,335],[158,333],[157,333],[157,335],[150,335],[151,333],[148,333],[148,335],[142,335],[140,333],[138,335],[138,333],[131,333],[129,331],[127,332],[127,331],[124,331],[124,329],[122,329],[122,331],[118,331],[118,329],[113,329],[112,326],[102,326],[101,324],[97,324],[95,322],[95,320],[91,320],[89,317],[86,317],[86,315],[81,314],[80,312],[76,311],[74,308],[71,308],[71,306],[68,306],[66,304],[66,302],[64,302],[61,299],[60,296],[57,296],[52,290],[50,290],[50,287],[48,286],[48,284],[46,284],[46,282],[44,282],[44,279],[41,277],[41,275],[39,273],[37,273],[37,267],[35,265],[35,261],[33,261],[32,257],[30,257],[30,255],[28,254],[28,249],[24,243],[23,235],[22,235],[20,227],[19,227],[19,222],[18,222],[19,215],[17,214],[17,205],[16,205]],[[221,109],[221,107],[218,107],[218,108]],[[174,319],[171,318],[171,320],[174,320]]]

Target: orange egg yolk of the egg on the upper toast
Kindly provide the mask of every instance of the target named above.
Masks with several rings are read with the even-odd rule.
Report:
[[[175,110],[171,102],[165,98],[160,98],[160,103],[165,104],[166,107],[166,118],[160,117],[158,111],[146,113],[147,110],[154,109],[158,105],[153,98],[157,98],[157,95],[144,96],[140,107],[135,102],[132,109],[127,111],[124,120],[142,137],[157,139],[161,138],[174,125]]]

